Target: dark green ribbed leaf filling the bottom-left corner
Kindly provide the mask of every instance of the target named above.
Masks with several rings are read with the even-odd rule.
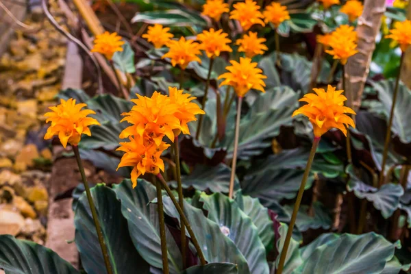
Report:
[[[0,236],[0,269],[8,274],[79,274],[51,249],[10,235]]]

